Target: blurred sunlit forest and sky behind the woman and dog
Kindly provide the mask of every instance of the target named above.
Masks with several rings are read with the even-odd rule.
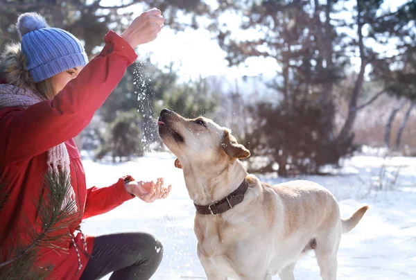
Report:
[[[159,38],[137,49],[139,60],[78,137],[97,160],[163,149],[154,119],[164,107],[231,128],[253,161],[262,157],[249,167],[261,173],[318,174],[363,145],[416,153],[415,1],[0,4],[0,43],[18,39],[17,15],[37,11],[83,40],[90,58],[107,30],[121,33],[141,11],[162,10]]]

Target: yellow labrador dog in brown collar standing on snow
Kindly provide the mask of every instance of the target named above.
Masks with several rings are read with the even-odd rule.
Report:
[[[336,279],[341,234],[367,206],[341,220],[338,202],[319,184],[261,183],[239,161],[250,152],[209,119],[162,110],[158,126],[196,207],[198,257],[208,280],[295,279],[295,263],[309,250],[322,279]]]

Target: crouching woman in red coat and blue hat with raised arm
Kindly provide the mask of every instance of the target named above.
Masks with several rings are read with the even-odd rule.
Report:
[[[135,196],[145,202],[166,198],[171,186],[165,188],[162,179],[155,184],[125,176],[106,188],[87,189],[72,138],[136,60],[135,47],[155,40],[163,23],[160,10],[144,12],[120,36],[107,33],[105,47],[88,62],[71,33],[49,27],[36,13],[19,17],[21,44],[8,46],[0,60],[0,175],[8,182],[0,190],[8,195],[0,213],[3,261],[17,245],[31,243],[28,227],[40,228],[33,202],[46,197],[45,173],[63,171],[71,178],[64,204],[75,204],[78,216],[62,229],[67,238],[40,249],[36,267],[49,270],[48,279],[99,279],[110,272],[110,279],[149,279],[155,272],[163,250],[153,236],[138,232],[94,238],[82,234],[80,222]]]

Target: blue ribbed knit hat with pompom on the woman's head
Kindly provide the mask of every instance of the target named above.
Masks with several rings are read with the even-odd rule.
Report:
[[[25,12],[16,24],[21,37],[21,52],[35,82],[88,63],[83,45],[71,33],[51,28],[36,12]]]

